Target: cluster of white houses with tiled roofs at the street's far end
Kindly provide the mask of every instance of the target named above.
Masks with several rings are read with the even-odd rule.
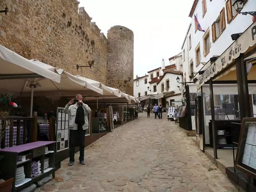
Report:
[[[170,61],[172,64],[168,66],[165,66],[163,59],[161,67],[148,71],[148,75],[134,79],[134,96],[144,103],[144,106],[158,103],[166,108],[172,104],[171,102],[181,101],[181,84],[178,84],[176,78],[179,77],[182,82],[182,72],[177,71],[182,68],[182,56],[178,54],[173,59]]]

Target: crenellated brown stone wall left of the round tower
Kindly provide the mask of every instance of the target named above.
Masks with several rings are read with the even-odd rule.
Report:
[[[77,0],[2,0],[0,44],[24,56],[107,83],[107,39]],[[76,64],[92,68],[76,70]]]

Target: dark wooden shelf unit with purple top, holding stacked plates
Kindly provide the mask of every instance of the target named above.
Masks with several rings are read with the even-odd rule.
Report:
[[[45,148],[53,151],[50,153],[45,152]],[[53,174],[56,170],[54,166],[55,158],[55,142],[54,141],[38,141],[19,146],[4,148],[0,150],[0,156],[3,158],[0,160],[0,178],[8,180],[13,178],[14,182],[12,185],[12,192],[19,191],[42,178]],[[18,161],[18,155],[29,155],[29,159],[21,162]],[[49,168],[44,170],[44,158],[49,158]],[[31,164],[33,161],[40,160],[41,163],[41,174],[32,178],[31,177]],[[6,166],[8,164],[8,166]],[[24,166],[25,181],[22,184],[15,185],[16,168],[17,166]]]

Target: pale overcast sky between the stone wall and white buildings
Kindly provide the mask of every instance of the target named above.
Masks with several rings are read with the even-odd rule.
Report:
[[[79,7],[107,36],[115,25],[134,33],[134,78],[181,52],[194,0],[80,0]]]

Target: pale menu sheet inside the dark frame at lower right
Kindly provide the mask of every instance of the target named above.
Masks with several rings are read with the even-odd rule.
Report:
[[[248,124],[242,163],[256,170],[256,123]]]

